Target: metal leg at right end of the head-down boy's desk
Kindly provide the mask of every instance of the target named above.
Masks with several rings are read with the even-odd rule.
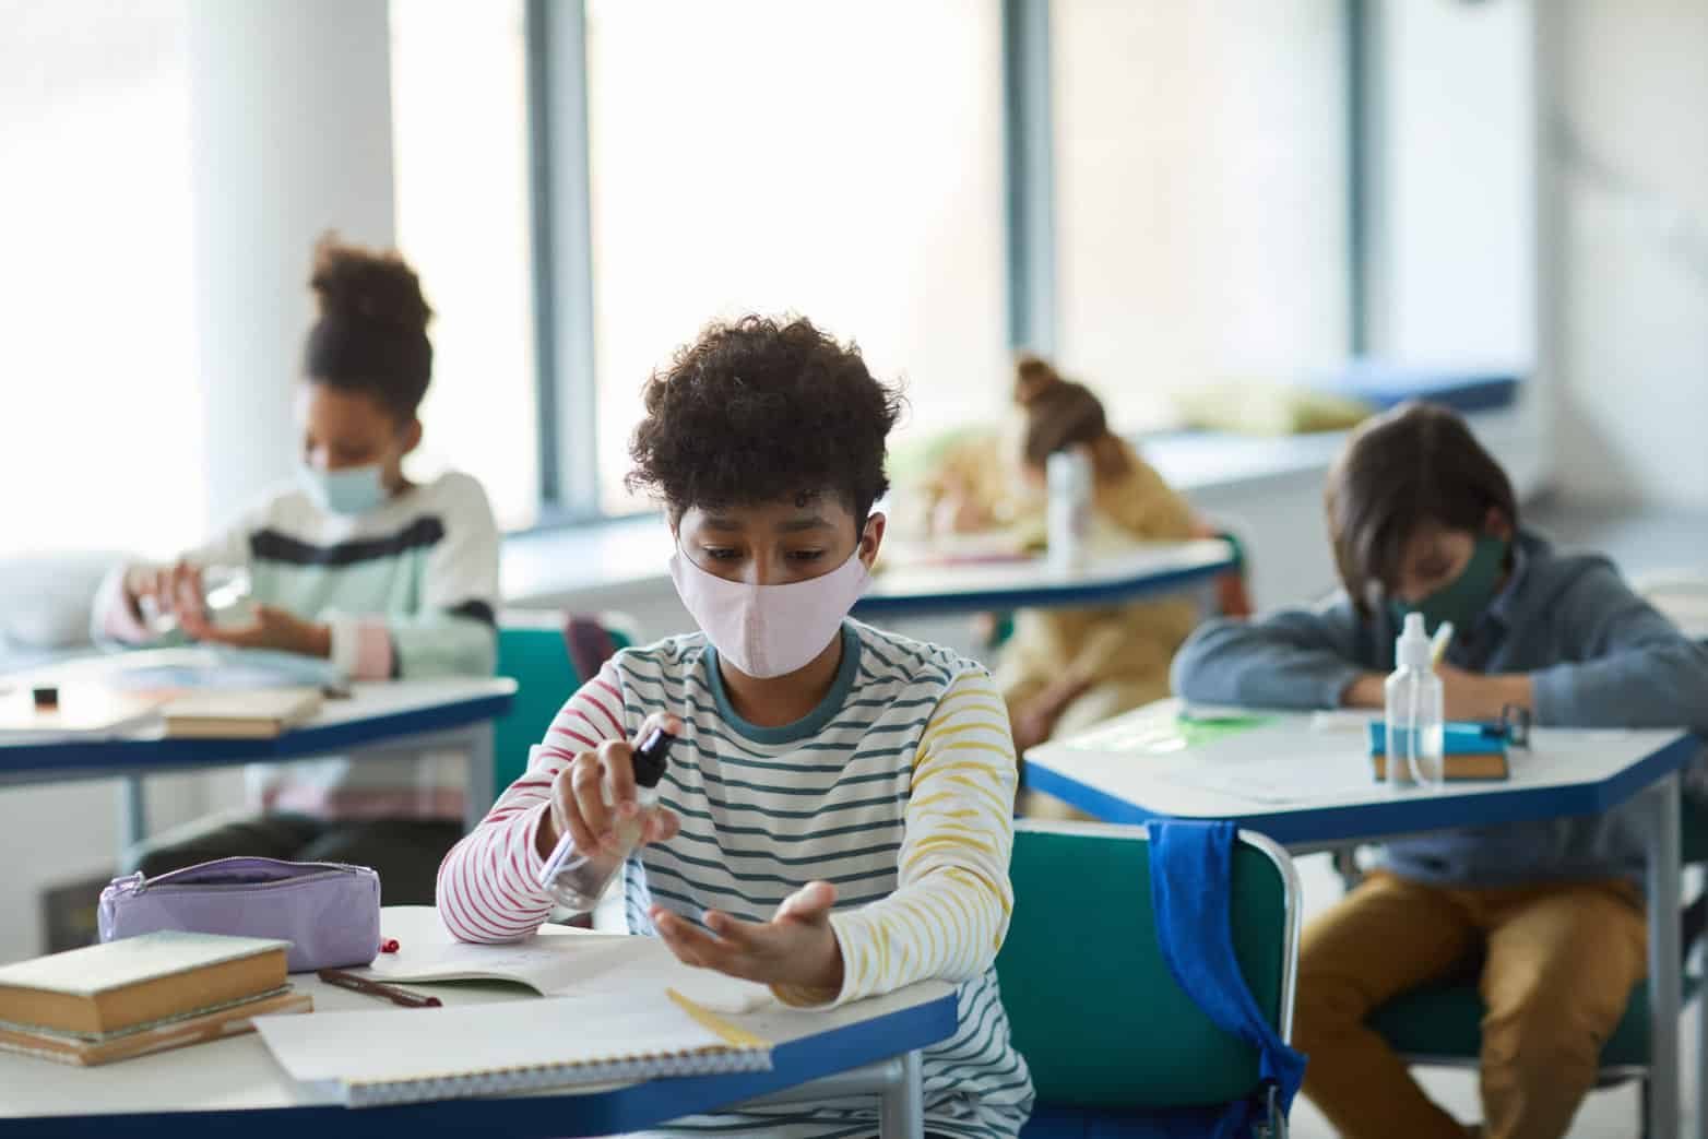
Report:
[[[1679,1134],[1679,1009],[1684,970],[1679,967],[1679,775],[1667,775],[1647,792],[1648,845],[1648,1119],[1653,1139]],[[1698,1120],[1701,1127],[1701,1120]]]

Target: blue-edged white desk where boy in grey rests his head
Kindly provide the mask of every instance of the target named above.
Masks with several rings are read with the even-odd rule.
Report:
[[[1182,741],[1175,750],[1167,743],[1136,748],[1134,726],[1156,714],[1151,705],[1074,739],[1032,748],[1027,784],[1110,823],[1233,820],[1295,854],[1454,827],[1597,815],[1640,801],[1650,820],[1648,895],[1657,900],[1648,907],[1650,1119],[1655,1139],[1679,1134],[1679,770],[1701,751],[1701,739],[1682,731],[1535,729],[1529,751],[1512,750],[1510,780],[1424,791],[1370,777],[1370,736],[1361,726],[1319,731],[1308,716],[1276,716],[1266,726]],[[1237,792],[1240,784],[1250,794]],[[1708,1050],[1699,1079],[1708,1081]],[[1708,1115],[1698,1112],[1698,1124],[1708,1136]]]

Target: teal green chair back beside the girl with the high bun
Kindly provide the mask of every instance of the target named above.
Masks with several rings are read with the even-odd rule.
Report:
[[[605,613],[596,618],[570,618],[557,611],[512,611],[499,622],[499,676],[516,681],[511,710],[494,724],[492,786],[502,792],[528,770],[528,748],[545,738],[545,729],[586,680],[603,664],[588,645],[577,661],[570,656],[570,622],[577,630],[589,625],[603,630],[610,652],[635,642],[627,618]],[[608,656],[608,652],[606,652]]]

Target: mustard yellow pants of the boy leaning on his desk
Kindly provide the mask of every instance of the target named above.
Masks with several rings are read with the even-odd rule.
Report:
[[[1481,953],[1483,1134],[1558,1139],[1647,972],[1647,944],[1624,881],[1450,890],[1375,873],[1305,931],[1293,1021],[1305,1095],[1349,1139],[1462,1139],[1365,1016]]]

